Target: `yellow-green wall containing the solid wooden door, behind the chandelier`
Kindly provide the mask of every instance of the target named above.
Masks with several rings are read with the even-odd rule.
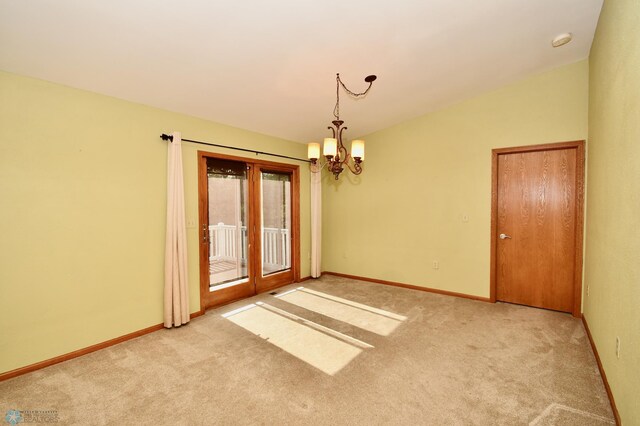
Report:
[[[366,136],[325,179],[323,270],[488,297],[491,149],[586,139],[587,105],[581,61]]]

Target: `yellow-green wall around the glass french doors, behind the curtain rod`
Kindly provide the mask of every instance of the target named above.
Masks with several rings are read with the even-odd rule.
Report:
[[[301,144],[0,72],[0,372],[162,322],[167,147],[159,135],[173,130],[306,156]],[[187,218],[196,221],[204,148],[183,148]],[[309,172],[293,163],[301,165],[304,277]],[[193,312],[195,228],[188,250]]]

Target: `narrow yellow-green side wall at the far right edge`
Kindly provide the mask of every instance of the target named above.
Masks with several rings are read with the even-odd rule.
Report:
[[[584,315],[623,424],[640,425],[640,2],[605,1],[589,63]]]

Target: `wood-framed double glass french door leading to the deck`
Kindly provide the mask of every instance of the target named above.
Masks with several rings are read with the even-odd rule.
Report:
[[[299,280],[298,166],[198,153],[200,305]]]

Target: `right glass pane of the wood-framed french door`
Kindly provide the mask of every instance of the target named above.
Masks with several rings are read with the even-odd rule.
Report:
[[[291,269],[291,173],[260,172],[262,277]]]

